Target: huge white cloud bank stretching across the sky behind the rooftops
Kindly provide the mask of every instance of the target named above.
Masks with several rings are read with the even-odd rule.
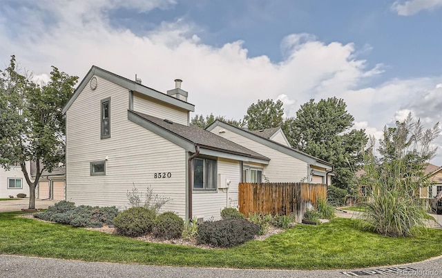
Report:
[[[442,117],[437,108],[439,91],[430,92],[441,77],[393,79],[360,88],[363,81],[383,72],[381,64],[369,68],[365,59],[358,58],[370,46],[324,43],[311,34],[289,34],[281,42],[285,59],[272,63],[267,56],[250,57],[240,40],[219,47],[204,44],[196,34],[200,27],[185,19],[163,22],[146,34],[111,24],[112,9],[165,9],[175,1],[23,3],[27,6],[3,8],[0,61],[7,63],[9,55],[16,54],[23,67],[46,81],[51,65],[80,79],[92,65],[131,79],[137,74],[143,84],[162,92],[180,78],[196,113],[212,112],[228,119],[241,119],[258,99],[281,99],[286,116],[292,117],[309,99],[338,97],[354,115],[355,128],[363,126],[377,138],[385,124],[394,122],[396,111],[412,110],[429,123]],[[15,26],[8,23],[11,19]],[[427,97],[422,97],[425,93]],[[419,108],[413,106],[425,99],[429,100]]]

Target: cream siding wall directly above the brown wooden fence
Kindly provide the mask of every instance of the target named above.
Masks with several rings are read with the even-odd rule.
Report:
[[[226,129],[225,132],[220,133],[220,129],[220,126],[216,126],[211,132],[271,159],[269,165],[265,167],[265,176],[270,182],[299,182],[307,178],[306,162],[242,137],[230,130]]]

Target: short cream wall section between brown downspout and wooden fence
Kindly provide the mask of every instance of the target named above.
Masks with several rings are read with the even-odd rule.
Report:
[[[218,159],[217,175],[218,188],[220,187],[220,175],[225,175],[230,181],[229,189],[217,189],[216,192],[201,192],[193,190],[193,217],[215,220],[221,219],[223,208],[238,208],[238,184],[241,177],[240,161],[230,159]],[[227,196],[228,195],[228,196]]]

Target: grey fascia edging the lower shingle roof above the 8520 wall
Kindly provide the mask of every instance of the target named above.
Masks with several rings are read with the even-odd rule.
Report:
[[[148,119],[137,115],[131,110],[128,110],[128,120],[137,123],[138,125],[146,128],[147,130],[150,130],[151,132],[154,132],[156,135],[159,135],[164,139],[171,141],[172,143],[175,143],[177,146],[180,146],[189,152],[195,152],[195,146],[199,146],[201,155],[212,155],[227,159],[236,159],[239,161],[256,162],[266,165],[269,164],[270,159],[267,157],[265,157],[264,159],[264,157],[254,157],[253,155],[249,155],[246,153],[234,152],[230,150],[224,150],[222,148],[215,148],[213,146],[206,146],[201,143],[195,143],[190,139],[182,137],[181,135],[178,135],[167,128],[157,125],[153,121],[149,121]]]

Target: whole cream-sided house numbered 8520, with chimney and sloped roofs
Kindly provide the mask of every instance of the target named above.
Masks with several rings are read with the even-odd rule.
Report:
[[[223,208],[238,207],[241,181],[326,181],[332,166],[290,148],[280,130],[247,132],[268,141],[255,150],[191,126],[195,107],[181,83],[164,94],[90,68],[63,109],[67,201],[124,209],[135,186],[170,198],[162,210],[183,219],[220,219]]]

